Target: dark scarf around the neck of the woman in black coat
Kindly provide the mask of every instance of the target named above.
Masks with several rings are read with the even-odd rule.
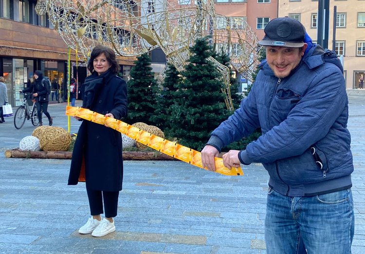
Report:
[[[110,79],[114,76],[110,72],[110,69],[105,73],[98,75],[97,72],[93,72],[90,76],[85,79],[85,91],[82,102],[82,108],[91,109],[92,103],[95,100],[95,95],[98,94],[103,85],[108,84]]]

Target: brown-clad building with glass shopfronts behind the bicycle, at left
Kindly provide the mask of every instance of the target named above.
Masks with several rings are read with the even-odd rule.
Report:
[[[0,75],[6,80],[13,107],[20,104],[18,91],[30,84],[36,70],[60,85],[59,102],[67,100],[68,48],[47,15],[37,15],[36,4],[37,0],[0,0]],[[135,57],[118,57],[118,60],[121,73],[128,78]],[[71,75],[82,84],[87,76],[86,63],[78,59],[76,64],[74,51],[71,66]],[[55,101],[51,95],[50,101],[52,97]]]

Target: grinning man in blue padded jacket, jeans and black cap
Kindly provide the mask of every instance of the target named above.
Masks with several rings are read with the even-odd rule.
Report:
[[[223,155],[228,168],[262,163],[270,175],[265,218],[268,254],[348,254],[354,234],[348,100],[333,51],[311,43],[303,25],[275,18],[259,42],[266,59],[240,108],[201,151],[209,170],[221,147],[261,127],[245,150]]]

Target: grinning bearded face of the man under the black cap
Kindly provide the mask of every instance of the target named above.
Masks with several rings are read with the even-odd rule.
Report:
[[[268,46],[266,47],[267,63],[276,77],[287,77],[298,66],[306,48],[307,43],[304,43],[302,50],[300,48]]]

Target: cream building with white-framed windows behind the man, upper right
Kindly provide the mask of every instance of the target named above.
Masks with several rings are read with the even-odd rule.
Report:
[[[317,41],[318,0],[279,0],[278,6],[278,17],[298,19],[312,40]],[[360,76],[365,76],[365,0],[329,0],[328,48],[343,63],[346,88],[358,88]]]

